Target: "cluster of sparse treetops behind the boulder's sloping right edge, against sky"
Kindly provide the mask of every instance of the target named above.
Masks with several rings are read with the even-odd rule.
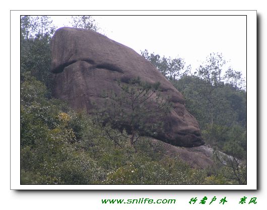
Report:
[[[185,65],[183,58],[176,57],[161,57],[159,54],[154,54],[145,51],[141,52],[147,60],[149,60],[168,80],[178,80],[183,76],[188,75],[191,70],[191,66]]]

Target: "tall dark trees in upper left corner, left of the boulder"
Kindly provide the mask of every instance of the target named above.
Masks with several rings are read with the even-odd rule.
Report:
[[[21,16],[21,81],[30,72],[51,90],[50,40],[55,31],[48,16]]]

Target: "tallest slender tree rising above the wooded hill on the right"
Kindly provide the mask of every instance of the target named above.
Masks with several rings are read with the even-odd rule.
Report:
[[[206,57],[206,61],[194,72],[194,75],[201,79],[197,84],[197,94],[199,95],[198,98],[203,101],[202,105],[208,110],[207,116],[211,127],[214,123],[224,124],[220,123],[220,120],[229,125],[235,117],[229,101],[225,100],[226,90],[223,82],[224,77],[222,76],[225,63],[226,60],[222,53],[210,53]],[[223,118],[218,117],[223,115]],[[225,121],[224,119],[230,120]]]

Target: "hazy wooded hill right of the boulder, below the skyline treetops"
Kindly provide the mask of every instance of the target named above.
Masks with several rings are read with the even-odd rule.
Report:
[[[206,144],[245,160],[246,92],[229,84],[215,86],[195,76],[173,84],[183,94],[186,109],[199,122]]]

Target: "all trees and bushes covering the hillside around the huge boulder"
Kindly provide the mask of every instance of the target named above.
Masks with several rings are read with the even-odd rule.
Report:
[[[97,30],[94,22],[86,21],[92,19],[76,18],[74,23]],[[52,98],[49,68],[54,29],[47,16],[21,17],[21,184],[246,183],[246,91],[239,72],[229,67],[222,75],[226,62],[221,54],[210,54],[190,74],[190,65],[182,58],[142,53],[183,94],[207,145],[229,155],[215,152],[217,165],[194,169],[178,156],[165,155],[160,143],[152,143],[142,133],[129,136],[112,128],[112,123],[95,123],[95,117]],[[142,85],[144,98],[157,90]],[[121,88],[125,94],[113,99],[125,101],[127,94],[135,94],[135,89]],[[138,107],[135,111],[147,108]],[[147,129],[142,119],[133,120],[132,127],[138,121]]]

